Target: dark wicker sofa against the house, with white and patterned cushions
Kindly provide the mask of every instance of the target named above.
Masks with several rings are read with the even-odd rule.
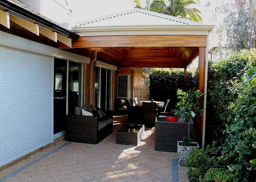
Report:
[[[67,115],[66,140],[97,144],[113,132],[113,111],[103,111],[104,120],[96,116]]]

